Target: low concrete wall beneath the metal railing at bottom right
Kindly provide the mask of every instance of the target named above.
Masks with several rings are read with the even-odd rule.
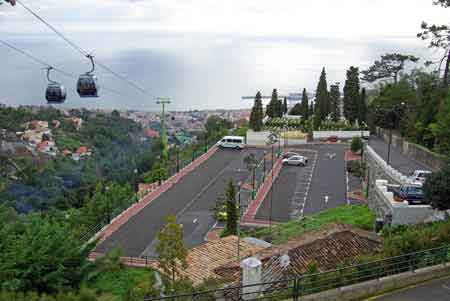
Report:
[[[304,296],[301,300],[363,300],[448,275],[450,275],[450,265],[447,263]]]

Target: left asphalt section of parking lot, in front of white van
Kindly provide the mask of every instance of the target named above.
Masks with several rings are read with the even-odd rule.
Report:
[[[155,238],[169,214],[176,214],[183,224],[185,244],[188,248],[203,243],[204,236],[214,224],[211,208],[223,194],[230,178],[244,182],[249,177],[243,163],[248,153],[259,160],[262,151],[218,150],[209,160],[182,178],[176,185],[133,216],[98,247],[105,252],[115,246],[125,256],[154,256]]]

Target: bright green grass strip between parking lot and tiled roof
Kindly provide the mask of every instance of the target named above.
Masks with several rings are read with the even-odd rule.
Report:
[[[280,244],[302,233],[317,230],[336,222],[356,226],[364,230],[372,230],[375,215],[367,205],[342,206],[306,217],[303,220],[279,224],[272,228],[272,234],[270,234],[269,228],[258,229],[248,234],[271,240],[274,244]]]

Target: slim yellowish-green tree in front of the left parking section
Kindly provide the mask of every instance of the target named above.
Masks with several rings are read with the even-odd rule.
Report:
[[[183,227],[177,223],[174,215],[167,217],[166,225],[158,234],[156,253],[160,267],[175,283],[179,267],[187,268],[188,251],[183,243]]]

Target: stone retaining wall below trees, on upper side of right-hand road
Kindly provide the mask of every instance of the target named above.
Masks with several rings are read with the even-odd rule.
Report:
[[[377,128],[377,135],[389,143],[389,130]],[[411,159],[428,166],[431,170],[436,171],[445,164],[445,157],[433,153],[424,147],[410,143],[400,136],[392,135],[392,145],[400,150],[404,155]]]

